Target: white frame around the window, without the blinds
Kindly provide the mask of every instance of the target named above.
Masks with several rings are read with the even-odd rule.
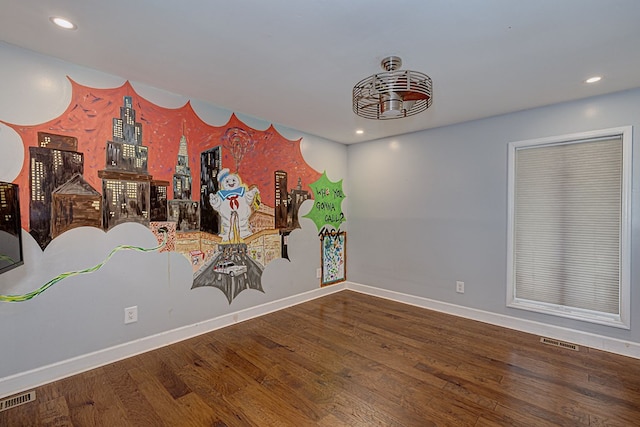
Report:
[[[588,142],[589,140],[621,137],[621,227],[620,227],[620,277],[619,313],[610,314],[576,307],[516,298],[515,295],[515,181],[516,152],[522,148],[536,148],[560,144]],[[622,126],[609,129],[580,132],[546,138],[529,139],[508,143],[507,180],[507,307],[544,313],[616,328],[630,329],[631,310],[631,195],[632,195],[632,143],[633,127]]]

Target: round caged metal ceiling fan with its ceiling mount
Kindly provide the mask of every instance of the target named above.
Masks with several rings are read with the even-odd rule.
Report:
[[[353,87],[353,112],[375,120],[398,119],[425,111],[433,102],[433,82],[418,71],[398,70],[396,56],[381,62],[386,71],[359,81]]]

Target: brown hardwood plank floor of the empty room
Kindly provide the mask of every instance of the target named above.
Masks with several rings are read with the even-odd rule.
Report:
[[[638,426],[640,360],[343,291],[36,393],[0,426]]]

